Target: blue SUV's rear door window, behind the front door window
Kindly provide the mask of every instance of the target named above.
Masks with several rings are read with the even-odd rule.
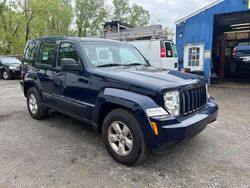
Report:
[[[41,44],[39,53],[39,64],[53,65],[55,55],[56,42],[45,42]]]

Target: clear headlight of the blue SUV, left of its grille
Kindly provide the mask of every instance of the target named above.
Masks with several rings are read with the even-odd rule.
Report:
[[[164,95],[164,107],[172,115],[180,115],[180,92],[170,91]]]

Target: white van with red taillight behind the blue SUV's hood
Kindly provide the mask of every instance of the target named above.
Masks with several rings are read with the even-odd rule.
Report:
[[[178,54],[173,41],[164,39],[128,41],[157,68],[178,70]]]

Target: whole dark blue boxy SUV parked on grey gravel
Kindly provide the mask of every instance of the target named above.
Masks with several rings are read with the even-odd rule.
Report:
[[[105,39],[29,41],[21,86],[34,119],[55,109],[92,125],[125,165],[192,138],[218,113],[202,77],[154,68],[132,45]]]

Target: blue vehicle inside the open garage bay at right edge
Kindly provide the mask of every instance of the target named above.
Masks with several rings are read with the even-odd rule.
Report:
[[[239,42],[233,50],[233,56],[239,62],[250,63],[250,41]]]

